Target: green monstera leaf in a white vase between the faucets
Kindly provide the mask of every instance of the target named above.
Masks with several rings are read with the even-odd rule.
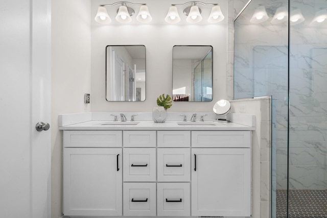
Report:
[[[168,113],[167,109],[172,106],[172,98],[169,94],[161,94],[157,98],[158,107],[154,107],[152,110],[152,119],[154,123],[165,123]]]

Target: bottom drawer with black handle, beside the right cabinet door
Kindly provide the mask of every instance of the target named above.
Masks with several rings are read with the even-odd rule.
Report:
[[[190,183],[157,184],[158,216],[190,216]]]

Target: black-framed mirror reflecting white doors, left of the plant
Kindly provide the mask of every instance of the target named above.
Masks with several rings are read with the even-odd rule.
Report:
[[[144,45],[106,46],[106,100],[139,102],[146,99]]]

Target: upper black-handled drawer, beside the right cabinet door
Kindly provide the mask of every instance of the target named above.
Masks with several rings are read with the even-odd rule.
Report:
[[[190,148],[158,148],[158,181],[189,182],[190,152]]]

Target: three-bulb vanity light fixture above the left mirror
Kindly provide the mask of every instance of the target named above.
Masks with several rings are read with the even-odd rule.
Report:
[[[131,7],[128,7],[127,4],[133,5],[133,6],[141,6],[139,8],[139,12],[136,16],[136,20],[139,22],[147,23],[152,20],[152,17],[150,15],[149,9],[146,4],[135,4],[130,2],[116,2],[110,5],[100,5],[98,8],[98,13],[95,17],[95,20],[99,23],[107,24],[111,22],[111,19],[108,15],[108,12],[105,7],[108,6],[114,6],[114,5],[121,5],[119,9],[117,10],[117,15],[115,19],[121,23],[129,23],[132,21],[131,16],[135,14],[134,9]]]

